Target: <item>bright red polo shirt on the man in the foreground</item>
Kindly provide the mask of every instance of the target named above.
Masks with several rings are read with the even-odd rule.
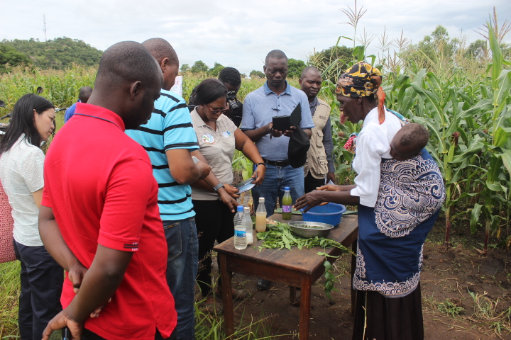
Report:
[[[91,266],[98,244],[133,251],[119,289],[84,327],[109,340],[164,338],[177,322],[167,286],[167,242],[158,210],[158,184],[147,152],[124,133],[112,111],[78,103],[45,159],[42,205],[53,209],[62,237]],[[75,294],[65,279],[62,306]]]

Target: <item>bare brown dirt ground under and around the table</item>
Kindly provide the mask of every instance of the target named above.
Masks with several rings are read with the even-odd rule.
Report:
[[[510,251],[491,249],[488,255],[481,255],[476,247],[480,248],[477,242],[483,237],[462,234],[454,235],[455,245],[446,249],[442,237],[443,228],[437,222],[424,246],[425,339],[511,339]],[[332,293],[334,301],[326,298],[322,278],[312,288],[309,339],[351,339],[349,256],[344,254],[335,265],[339,291]],[[272,335],[288,334],[279,339],[297,339],[299,307],[290,304],[287,286],[274,283],[270,290],[260,291],[256,278],[235,274],[233,280],[238,288],[251,293],[248,299],[234,302],[236,324],[242,317],[246,324],[268,317]]]

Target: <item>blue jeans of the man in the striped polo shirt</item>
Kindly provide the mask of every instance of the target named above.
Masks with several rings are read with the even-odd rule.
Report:
[[[194,285],[199,262],[199,242],[194,217],[163,222],[167,239],[167,285],[175,300],[177,339],[195,339]]]

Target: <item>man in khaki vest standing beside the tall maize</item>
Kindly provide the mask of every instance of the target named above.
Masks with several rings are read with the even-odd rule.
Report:
[[[309,98],[309,107],[314,121],[311,146],[307,152],[307,163],[304,165],[305,193],[322,186],[326,181],[335,182],[335,166],[331,154],[334,143],[331,135],[330,106],[317,98],[322,86],[322,75],[316,67],[305,67],[300,77],[302,91]]]

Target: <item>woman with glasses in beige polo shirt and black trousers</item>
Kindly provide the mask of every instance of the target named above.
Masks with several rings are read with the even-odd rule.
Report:
[[[204,181],[192,184],[192,202],[195,210],[195,223],[199,237],[199,275],[197,281],[204,297],[211,295],[211,250],[215,240],[219,243],[234,235],[235,198],[238,189],[233,187],[232,160],[234,150],[240,150],[256,164],[253,178],[260,184],[265,175],[265,164],[257,147],[224,115],[227,111],[227,89],[217,79],[205,79],[194,95],[192,123],[199,142],[199,152],[211,166],[209,176],[216,176],[211,188]],[[211,182],[210,182],[211,183]],[[219,283],[220,285],[220,283]],[[219,290],[216,290],[217,293]],[[243,298],[243,294],[233,290],[233,297]],[[212,304],[209,297],[206,304]]]

